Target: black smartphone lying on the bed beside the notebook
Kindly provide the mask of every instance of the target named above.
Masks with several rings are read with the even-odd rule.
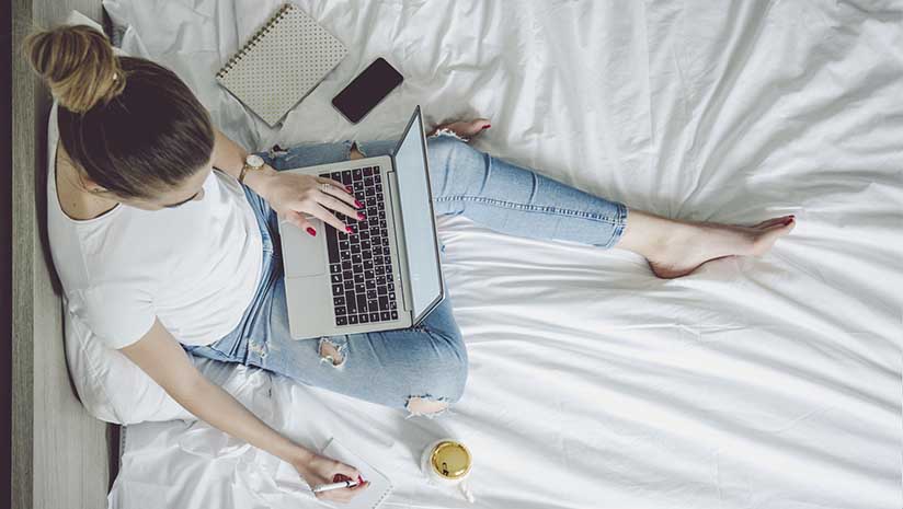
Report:
[[[332,105],[348,122],[357,124],[402,81],[404,78],[396,68],[377,58],[332,99]]]

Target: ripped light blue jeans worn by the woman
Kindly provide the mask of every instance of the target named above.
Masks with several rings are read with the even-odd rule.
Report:
[[[365,155],[384,155],[395,141],[358,143]],[[346,160],[352,142],[260,153],[276,170]],[[437,215],[462,213],[490,229],[535,239],[599,247],[617,243],[627,207],[588,195],[529,170],[479,152],[449,135],[430,138],[430,176]],[[448,298],[420,325],[405,329],[295,340],[288,333],[278,220],[266,201],[245,187],[263,236],[262,278],[241,323],[192,355],[260,367],[300,383],[386,406],[410,398],[454,403],[467,380],[467,349]],[[444,247],[444,246],[443,246]],[[320,356],[328,342],[338,366]],[[336,359],[338,360],[338,359]]]

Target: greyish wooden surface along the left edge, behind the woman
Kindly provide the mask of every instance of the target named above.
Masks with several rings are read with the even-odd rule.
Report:
[[[49,94],[19,43],[77,9],[101,20],[100,0],[13,0],[12,55],[12,501],[14,508],[106,506],[112,428],[76,397],[64,357],[58,282],[46,248]]]

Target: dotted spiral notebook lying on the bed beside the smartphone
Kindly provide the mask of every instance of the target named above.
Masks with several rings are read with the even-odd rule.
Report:
[[[216,80],[271,127],[307,96],[347,48],[286,3],[216,73]]]

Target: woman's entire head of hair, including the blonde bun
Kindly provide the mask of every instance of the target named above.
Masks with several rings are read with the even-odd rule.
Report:
[[[119,57],[90,26],[28,35],[22,46],[59,103],[59,138],[76,166],[122,198],[153,198],[210,160],[209,114],[171,70]]]

